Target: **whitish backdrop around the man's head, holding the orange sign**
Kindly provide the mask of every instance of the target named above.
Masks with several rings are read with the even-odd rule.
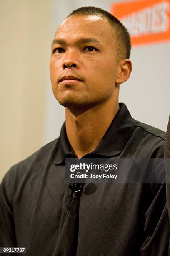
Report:
[[[110,6],[121,0],[53,0],[53,35],[61,21],[74,9],[81,6],[96,6],[110,11]],[[120,102],[124,102],[136,120],[166,131],[170,113],[170,42],[138,46],[132,49],[133,72],[130,79],[121,85]],[[60,134],[64,121],[64,108],[47,89],[47,109],[44,143]]]

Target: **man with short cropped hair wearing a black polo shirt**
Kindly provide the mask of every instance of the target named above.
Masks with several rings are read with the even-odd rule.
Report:
[[[79,8],[57,29],[50,77],[65,123],[57,140],[5,175],[0,246],[24,246],[30,256],[168,255],[165,184],[65,180],[66,158],[163,157],[164,133],[118,103],[130,47],[125,27],[100,8]]]

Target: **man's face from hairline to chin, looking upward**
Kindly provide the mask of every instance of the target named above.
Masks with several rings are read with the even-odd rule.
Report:
[[[62,22],[50,58],[52,90],[61,105],[87,107],[113,97],[118,74],[114,38],[114,29],[98,15]]]

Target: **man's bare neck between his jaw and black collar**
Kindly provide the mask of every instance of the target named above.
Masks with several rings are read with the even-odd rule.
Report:
[[[67,138],[79,159],[96,148],[118,110],[118,97],[92,108],[65,108]]]

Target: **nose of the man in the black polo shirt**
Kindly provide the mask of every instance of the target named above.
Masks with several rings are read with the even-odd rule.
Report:
[[[73,54],[73,53],[67,54],[65,56],[65,59],[63,60],[62,68],[78,69],[80,67],[80,62],[78,61],[77,58],[78,58],[77,54]]]

